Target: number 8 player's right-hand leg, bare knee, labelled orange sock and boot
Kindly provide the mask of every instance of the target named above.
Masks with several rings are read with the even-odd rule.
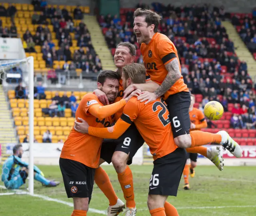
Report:
[[[127,165],[129,155],[122,151],[115,151],[112,156],[112,163],[118,174],[118,181],[124,193],[126,200],[125,216],[136,215],[136,204],[134,201],[134,189],[132,171]]]

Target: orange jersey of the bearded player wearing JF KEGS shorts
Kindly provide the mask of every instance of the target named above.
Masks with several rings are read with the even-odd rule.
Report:
[[[86,94],[76,110],[76,120],[79,122],[79,117],[86,120],[90,126],[109,127],[114,122],[114,113],[125,104],[126,101],[122,99],[117,103],[103,106],[95,94]],[[97,168],[100,160],[101,144],[102,138],[81,134],[72,128],[64,142],[60,157]]]

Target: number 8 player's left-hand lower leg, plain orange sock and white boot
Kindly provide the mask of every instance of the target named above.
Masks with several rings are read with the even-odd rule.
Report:
[[[100,159],[100,165],[104,163],[103,159]],[[108,174],[102,167],[99,167],[95,171],[94,181],[99,189],[105,194],[109,200],[109,206],[106,211],[107,216],[116,216],[124,209],[124,202],[116,196],[114,188],[110,182]]]

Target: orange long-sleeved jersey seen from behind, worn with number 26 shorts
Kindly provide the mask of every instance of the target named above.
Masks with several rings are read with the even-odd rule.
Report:
[[[177,148],[166,103],[160,98],[144,104],[138,101],[137,97],[133,97],[124,106],[123,114],[114,126],[110,128],[89,127],[88,133],[97,137],[117,139],[132,122],[150,147],[154,160],[172,153]]]

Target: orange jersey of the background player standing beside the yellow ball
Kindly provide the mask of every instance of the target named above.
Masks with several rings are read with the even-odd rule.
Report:
[[[190,122],[196,125],[196,128],[190,129],[190,131],[200,130],[201,128],[207,128],[207,122],[201,110],[197,108],[193,108],[193,110],[189,112],[189,116],[190,116]]]

